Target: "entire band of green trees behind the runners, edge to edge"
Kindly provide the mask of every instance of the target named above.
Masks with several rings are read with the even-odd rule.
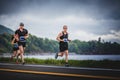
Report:
[[[0,34],[0,53],[8,53],[12,50],[11,34]],[[38,38],[30,34],[27,39],[27,53],[57,52],[59,43],[47,38]],[[73,40],[69,43],[69,51],[77,54],[120,54],[120,44],[101,41]]]

